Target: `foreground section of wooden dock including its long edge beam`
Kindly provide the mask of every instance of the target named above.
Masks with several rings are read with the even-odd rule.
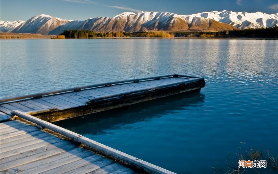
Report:
[[[174,174],[18,110],[12,114],[20,121],[0,123],[1,174]]]

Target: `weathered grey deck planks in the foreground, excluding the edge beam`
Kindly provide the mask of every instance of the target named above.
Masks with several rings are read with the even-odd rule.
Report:
[[[15,120],[0,123],[0,172],[111,173],[130,168]]]

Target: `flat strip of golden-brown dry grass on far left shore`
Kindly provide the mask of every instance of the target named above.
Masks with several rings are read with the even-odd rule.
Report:
[[[31,33],[0,33],[0,39],[50,39],[53,36]]]

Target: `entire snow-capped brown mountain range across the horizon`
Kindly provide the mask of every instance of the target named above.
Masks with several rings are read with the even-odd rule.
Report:
[[[1,32],[58,35],[63,30],[95,32],[142,31],[224,31],[278,26],[278,13],[232,12],[227,10],[179,15],[170,12],[124,12],[115,17],[96,17],[73,21],[40,14],[27,21],[0,21]]]

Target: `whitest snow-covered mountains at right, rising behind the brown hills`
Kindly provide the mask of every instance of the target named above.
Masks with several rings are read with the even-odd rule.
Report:
[[[248,13],[222,10],[202,12],[185,16],[189,18],[205,17],[214,19],[215,21],[231,24],[239,29],[278,26],[278,13],[266,14],[262,12]]]

